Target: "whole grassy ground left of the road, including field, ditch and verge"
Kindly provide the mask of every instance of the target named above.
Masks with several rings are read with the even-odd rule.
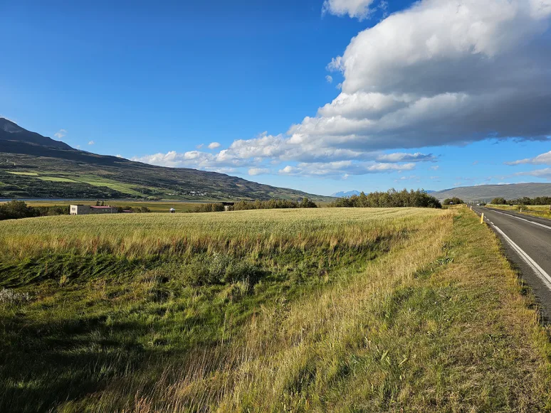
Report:
[[[547,331],[466,208],[32,218],[0,254],[0,411],[549,407]]]

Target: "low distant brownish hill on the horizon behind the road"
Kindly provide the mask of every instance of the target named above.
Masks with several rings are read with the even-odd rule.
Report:
[[[551,183],[512,183],[509,185],[481,185],[462,186],[460,188],[445,189],[434,192],[431,195],[444,200],[454,196],[468,201],[489,202],[493,198],[503,197],[507,200],[523,198],[535,198],[536,196],[551,196]]]

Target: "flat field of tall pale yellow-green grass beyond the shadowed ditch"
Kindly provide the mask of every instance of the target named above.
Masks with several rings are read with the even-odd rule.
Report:
[[[442,211],[394,208],[254,210],[206,215],[84,215],[0,222],[0,256],[22,259],[45,253],[127,258],[195,252],[278,254],[345,245],[361,247],[415,230]]]

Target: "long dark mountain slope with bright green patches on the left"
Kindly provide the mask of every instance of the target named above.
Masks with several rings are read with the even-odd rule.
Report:
[[[332,200],[224,173],[166,168],[73,149],[0,118],[0,198]]]

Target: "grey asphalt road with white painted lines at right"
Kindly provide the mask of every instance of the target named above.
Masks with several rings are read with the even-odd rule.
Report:
[[[498,234],[509,259],[532,288],[551,322],[551,220],[510,211],[473,207]]]

